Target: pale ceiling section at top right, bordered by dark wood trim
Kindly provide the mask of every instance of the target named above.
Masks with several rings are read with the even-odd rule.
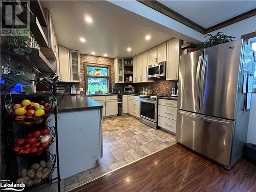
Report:
[[[225,20],[256,9],[256,1],[159,1],[169,9],[209,28]]]

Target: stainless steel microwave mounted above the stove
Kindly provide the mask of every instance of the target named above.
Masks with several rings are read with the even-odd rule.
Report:
[[[166,61],[146,66],[147,78],[164,77],[166,74]]]

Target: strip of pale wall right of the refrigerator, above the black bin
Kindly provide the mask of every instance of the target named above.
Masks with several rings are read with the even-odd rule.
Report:
[[[256,93],[252,94],[247,142],[256,144]]]

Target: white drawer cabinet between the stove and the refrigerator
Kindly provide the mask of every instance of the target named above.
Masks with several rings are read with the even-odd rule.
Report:
[[[177,100],[158,100],[158,126],[170,133],[176,133]]]

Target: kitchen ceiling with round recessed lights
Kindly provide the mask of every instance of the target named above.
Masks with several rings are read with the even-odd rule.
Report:
[[[147,49],[173,38],[152,28],[97,8],[101,1],[41,1],[42,7],[50,10],[59,45],[80,53],[108,57],[133,57]],[[85,17],[93,19],[86,23]],[[150,40],[145,40],[151,35]],[[80,37],[86,39],[81,42]],[[127,48],[132,48],[131,52]]]

